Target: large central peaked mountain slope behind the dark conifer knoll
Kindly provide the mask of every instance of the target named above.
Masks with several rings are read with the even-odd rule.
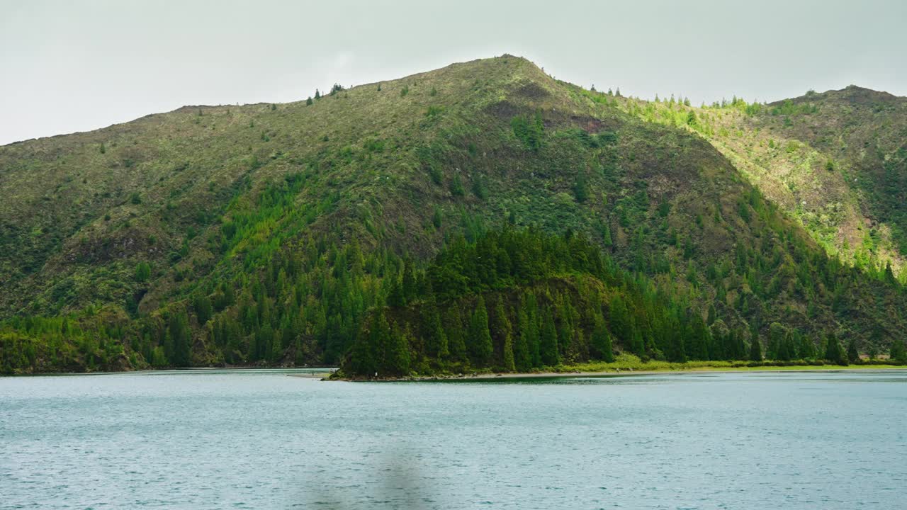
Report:
[[[896,282],[828,260],[707,140],[638,117],[505,55],[7,145],[0,331],[36,369],[336,363],[407,271],[506,224],[580,232],[746,338],[902,330]]]

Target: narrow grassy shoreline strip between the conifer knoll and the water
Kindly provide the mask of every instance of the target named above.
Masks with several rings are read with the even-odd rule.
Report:
[[[904,370],[903,365],[792,365],[789,367],[691,367],[691,368],[633,368],[611,370],[573,370],[557,372],[487,372],[475,374],[452,374],[434,376],[411,376],[406,378],[322,378],[325,381],[347,382],[424,382],[424,381],[488,381],[506,379],[548,379],[548,378],[615,378],[627,376],[654,376],[680,374],[726,374],[736,372],[863,372],[873,370]]]

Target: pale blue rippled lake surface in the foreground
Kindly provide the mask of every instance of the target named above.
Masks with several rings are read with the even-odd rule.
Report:
[[[0,378],[0,508],[907,507],[907,372]]]

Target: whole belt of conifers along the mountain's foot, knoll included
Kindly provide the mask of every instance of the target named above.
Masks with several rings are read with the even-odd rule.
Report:
[[[676,362],[859,361],[853,338],[844,348],[833,334],[778,322],[764,331],[757,319],[728,323],[733,314],[727,310],[722,317],[714,305],[701,309],[671,285],[622,269],[581,233],[556,236],[504,225],[476,228],[470,239],[456,236],[419,267],[406,254],[307,238],[275,251],[264,270],[201,287],[191,299],[150,317],[131,320],[122,312],[88,309],[62,318],[7,320],[0,325],[0,367],[15,372],[344,360],[350,374],[403,376],[474,368],[528,371],[610,361],[617,352]],[[760,292],[752,268],[768,263],[749,250],[738,250],[736,259],[751,268],[749,287]],[[828,264],[832,274],[846,273],[834,261]],[[720,280],[726,270],[710,268],[706,278]],[[740,306],[758,302],[743,299]],[[893,342],[891,358],[907,362],[902,342]]]

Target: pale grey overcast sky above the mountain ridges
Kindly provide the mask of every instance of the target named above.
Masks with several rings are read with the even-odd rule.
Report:
[[[510,53],[600,90],[907,95],[907,0],[0,0],[0,144]]]

